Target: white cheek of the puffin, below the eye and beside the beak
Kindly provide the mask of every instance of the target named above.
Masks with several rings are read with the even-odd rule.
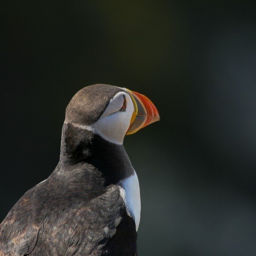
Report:
[[[91,125],[90,128],[105,140],[122,145],[123,138],[130,126],[131,116],[134,112],[134,104],[128,94],[126,94],[126,101],[126,111],[117,111],[111,115],[104,116]]]

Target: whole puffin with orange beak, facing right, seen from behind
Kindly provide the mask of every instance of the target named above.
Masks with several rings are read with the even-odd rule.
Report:
[[[0,224],[0,255],[137,255],[141,200],[125,135],[160,120],[146,96],[89,85],[66,108],[59,163]]]

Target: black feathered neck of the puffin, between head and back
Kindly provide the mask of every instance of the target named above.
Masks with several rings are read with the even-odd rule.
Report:
[[[134,173],[123,147],[110,143],[89,130],[65,123],[62,129],[58,174],[88,178],[101,186],[117,184]]]

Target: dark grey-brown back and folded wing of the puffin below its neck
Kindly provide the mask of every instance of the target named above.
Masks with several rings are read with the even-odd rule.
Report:
[[[0,224],[0,255],[135,254],[135,223],[117,186],[59,189],[43,182],[15,204]]]

